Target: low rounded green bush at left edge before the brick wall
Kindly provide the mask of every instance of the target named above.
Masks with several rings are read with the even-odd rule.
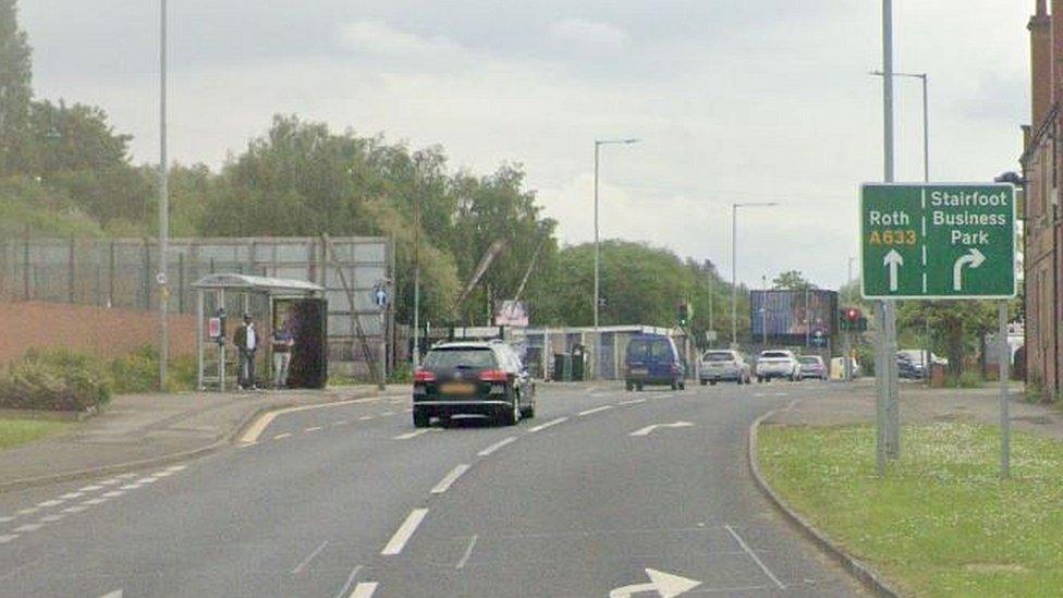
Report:
[[[0,407],[84,411],[110,398],[98,362],[70,351],[30,351],[0,373]]]

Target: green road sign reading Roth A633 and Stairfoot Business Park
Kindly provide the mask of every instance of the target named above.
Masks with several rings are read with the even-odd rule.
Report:
[[[867,298],[1015,296],[1015,187],[866,184],[860,257]]]

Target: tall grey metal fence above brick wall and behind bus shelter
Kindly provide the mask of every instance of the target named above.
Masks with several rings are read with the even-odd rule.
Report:
[[[393,339],[391,314],[381,314],[375,290],[394,297],[394,247],[384,237],[333,237],[328,255],[317,237],[174,239],[170,241],[170,308],[195,312],[192,283],[215,272],[316,282],[329,302],[329,358],[333,371],[358,373],[352,309],[338,267],[353,288],[354,313],[370,346]],[[0,240],[0,301],[47,301],[150,310],[158,307],[155,282],[158,244],[147,239]],[[338,267],[337,267],[338,265]],[[239,313],[240,306],[227,306]],[[393,346],[393,343],[388,343]],[[391,354],[391,352],[388,352]]]

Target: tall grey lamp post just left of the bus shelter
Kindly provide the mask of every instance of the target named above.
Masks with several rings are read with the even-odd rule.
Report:
[[[167,254],[170,252],[170,190],[167,156],[167,0],[160,0],[159,19],[159,389],[167,386],[170,358],[170,288]],[[196,322],[201,326],[203,322]]]

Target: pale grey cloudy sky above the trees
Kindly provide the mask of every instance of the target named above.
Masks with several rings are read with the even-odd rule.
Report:
[[[23,0],[41,97],[102,106],[157,159],[158,2]],[[880,3],[872,0],[175,0],[171,151],[222,163],[298,113],[440,144],[453,168],[521,162],[569,243],[604,236],[708,258],[738,278],[844,282],[856,188],[881,178]],[[897,0],[897,70],[929,72],[931,171],[1017,168],[1034,0]],[[921,97],[900,81],[899,179],[920,180]]]

